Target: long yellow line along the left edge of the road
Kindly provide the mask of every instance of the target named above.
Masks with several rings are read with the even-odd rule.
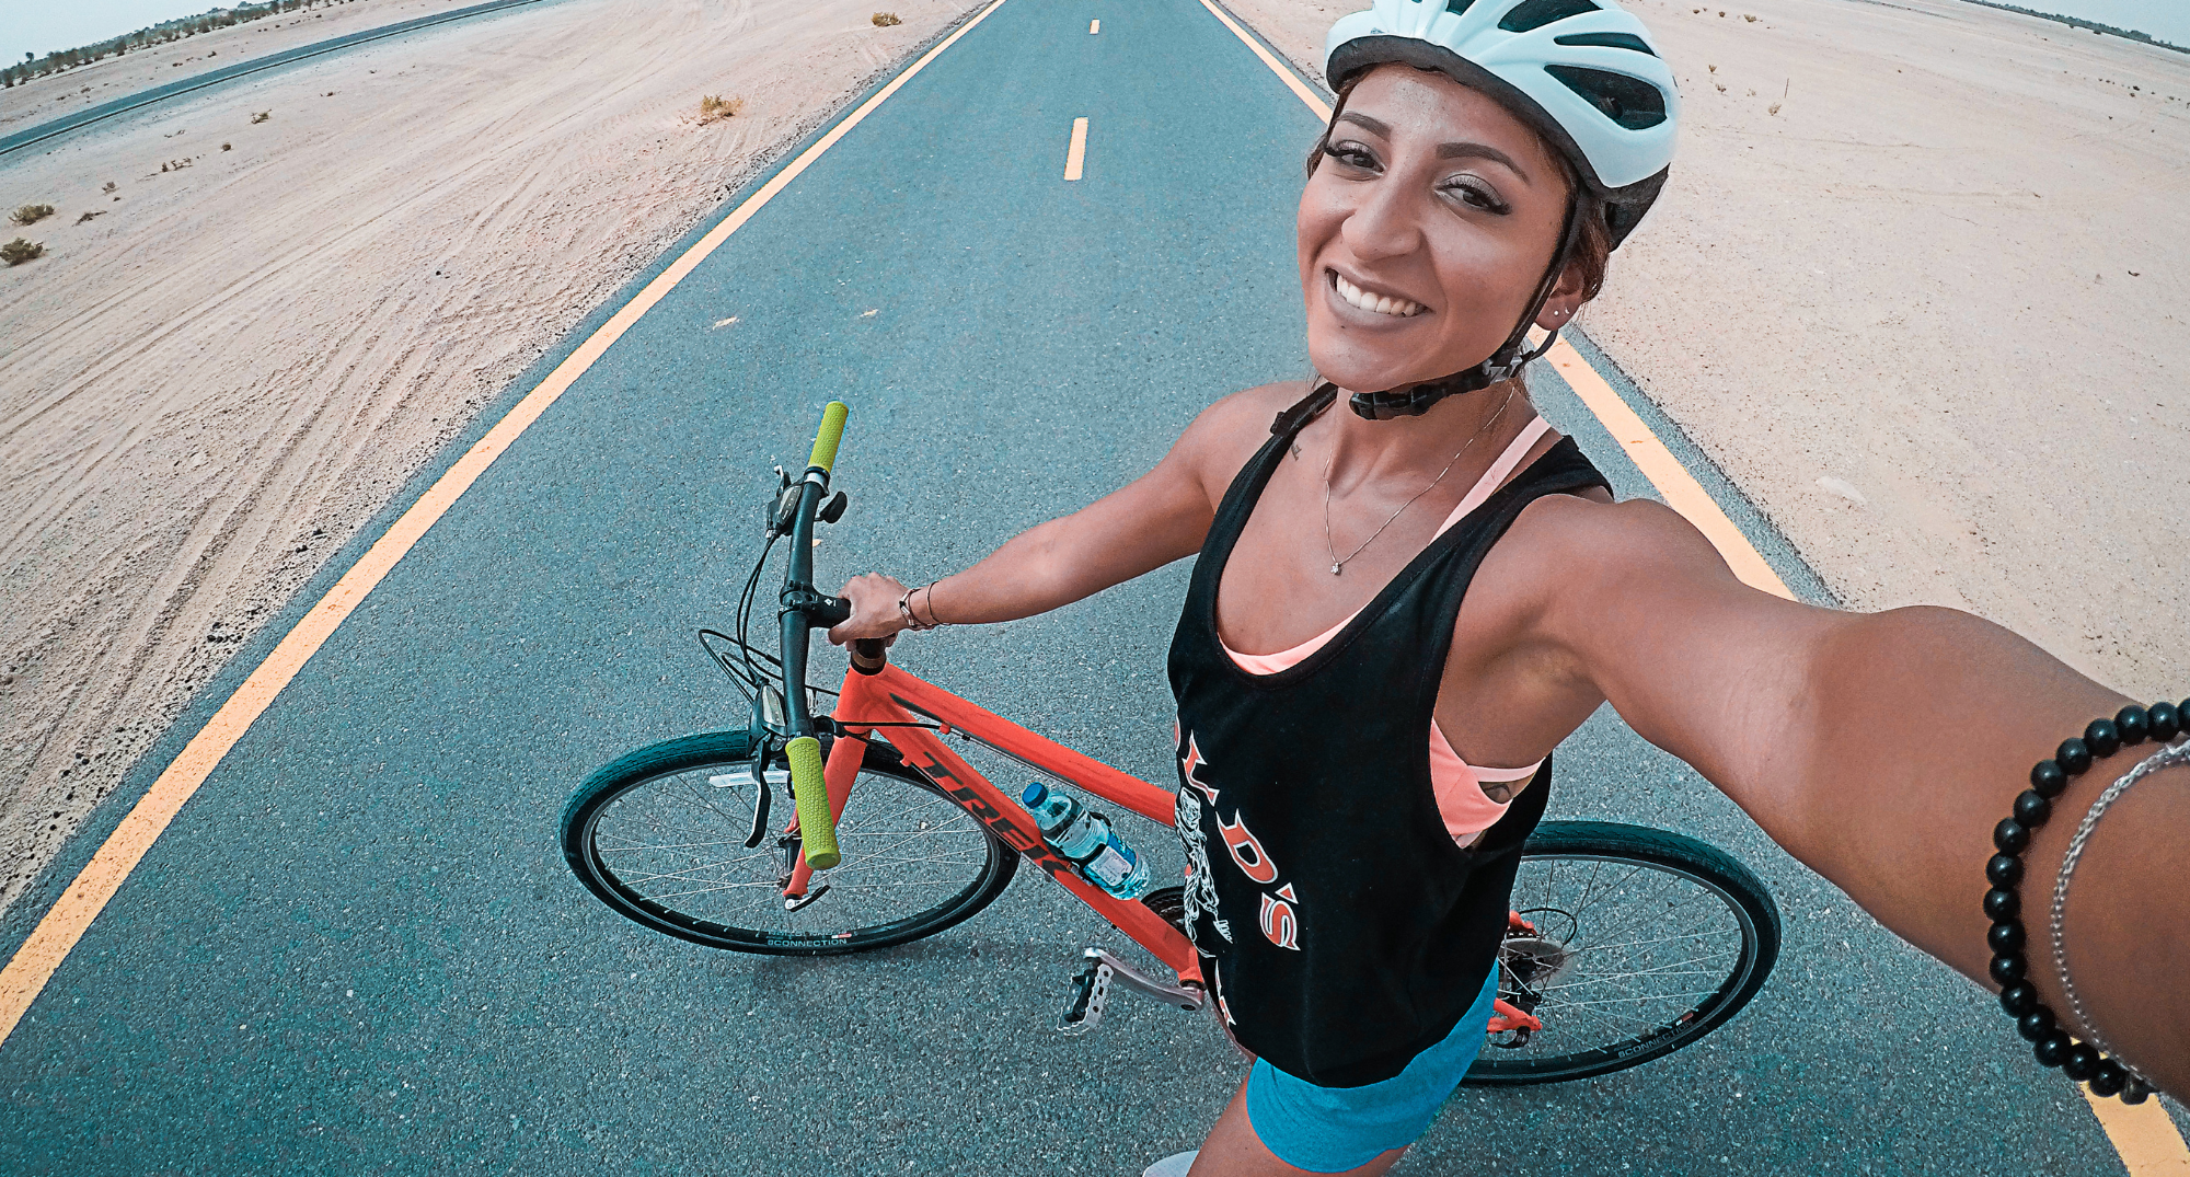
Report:
[[[83,939],[92,919],[96,919],[107,901],[114,899],[114,893],[120,890],[129,871],[134,871],[145,853],[151,851],[151,844],[166,829],[166,823],[175,820],[182,805],[191,801],[191,794],[195,794],[199,785],[206,783],[206,777],[210,777],[215,766],[221,764],[221,757],[237,746],[237,739],[243,739],[243,733],[250,731],[252,722],[258,720],[267,704],[274,702],[274,696],[278,696],[280,689],[296,678],[313,652],[318,652],[320,645],[335,634],[335,628],[342,626],[342,621],[366,599],[366,593],[370,593],[372,586],[396,567],[396,560],[401,560],[403,553],[407,553],[412,545],[425,536],[427,527],[431,527],[449,510],[449,505],[453,505],[456,499],[486,473],[495,457],[502,457],[502,453],[517,442],[526,427],[539,420],[539,416],[545,413],[558,396],[563,396],[572,381],[583,376],[611,343],[622,339],[622,335],[631,330],[631,324],[639,322],[639,317],[661,302],[664,295],[677,289],[677,282],[692,273],[699,263],[707,260],[707,254],[714,254],[716,247],[729,241],[729,234],[745,228],[745,223],[751,221],[762,206],[791,186],[799,173],[812,166],[812,162],[819,160],[823,151],[834,147],[837,140],[841,140],[852,127],[858,127],[858,123],[867,118],[874,107],[883,105],[883,101],[896,94],[907,81],[913,79],[913,74],[924,70],[929,61],[942,57],[946,48],[957,44],[957,39],[966,33],[972,33],[977,24],[988,20],[988,15],[1001,7],[1003,0],[994,0],[994,4],[981,9],[977,18],[961,24],[957,33],[944,37],[942,44],[931,48],[920,57],[920,61],[913,61],[902,74],[891,79],[889,85],[861,103],[852,114],[837,123],[830,133],[821,136],[812,147],[802,151],[797,160],[791,160],[791,166],[775,173],[773,179],[747,197],[745,203],[723,219],[721,225],[710,230],[707,236],[699,238],[683,252],[683,256],[670,263],[668,269],[655,276],[655,280],[648,282],[637,298],[626,302],[607,324],[600,324],[600,328],[596,328],[593,335],[589,335],[585,343],[569,354],[569,359],[558,363],[554,372],[539,383],[539,387],[526,394],[526,398],[519,400],[508,416],[495,422],[484,438],[464,451],[464,457],[460,457],[449,473],[436,479],[434,486],[429,486],[427,492],[412,503],[407,512],[403,512],[403,518],[396,518],[394,527],[366,549],[350,571],[342,573],[342,580],[337,580],[335,586],[320,597],[320,604],[311,606],[296,628],[280,639],[274,652],[267,654],[256,669],[252,669],[250,678],[237,687],[237,694],[228,696],[228,702],[212,713],[212,720],[208,720],[206,726],[191,737],[191,744],[186,744],[182,755],[166,766],[166,772],[160,772],[160,779],[151,783],[151,790],[138,799],[120,825],[114,827],[114,834],[99,847],[99,853],[94,853],[77,879],[68,884],[61,899],[55,901],[46,917],[37,921],[37,928],[31,930],[31,939],[26,939],[22,947],[15,949],[15,956],[9,958],[7,969],[0,969],[0,1044],[15,1033],[15,1024],[22,1022],[31,1002],[37,1000],[42,989],[46,989],[53,971],[59,969],[61,960],[68,958],[68,952],[77,947],[77,941]]]

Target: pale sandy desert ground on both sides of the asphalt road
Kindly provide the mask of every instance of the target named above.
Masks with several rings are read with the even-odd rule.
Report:
[[[1848,606],[2190,689],[2190,55],[1956,0],[1629,2],[1686,129],[1583,330]],[[0,133],[449,7],[39,79]],[[1233,0],[1310,77],[1349,7]],[[59,208],[0,269],[0,904],[482,405],[966,15],[872,9],[550,0],[0,158],[0,206]]]

